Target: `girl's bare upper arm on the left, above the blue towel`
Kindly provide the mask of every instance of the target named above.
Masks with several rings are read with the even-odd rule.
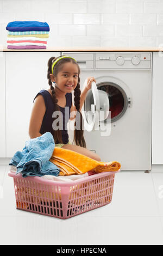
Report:
[[[29,122],[28,134],[31,139],[41,136],[40,129],[45,111],[46,107],[43,97],[42,95],[38,95],[34,101],[34,106]]]

